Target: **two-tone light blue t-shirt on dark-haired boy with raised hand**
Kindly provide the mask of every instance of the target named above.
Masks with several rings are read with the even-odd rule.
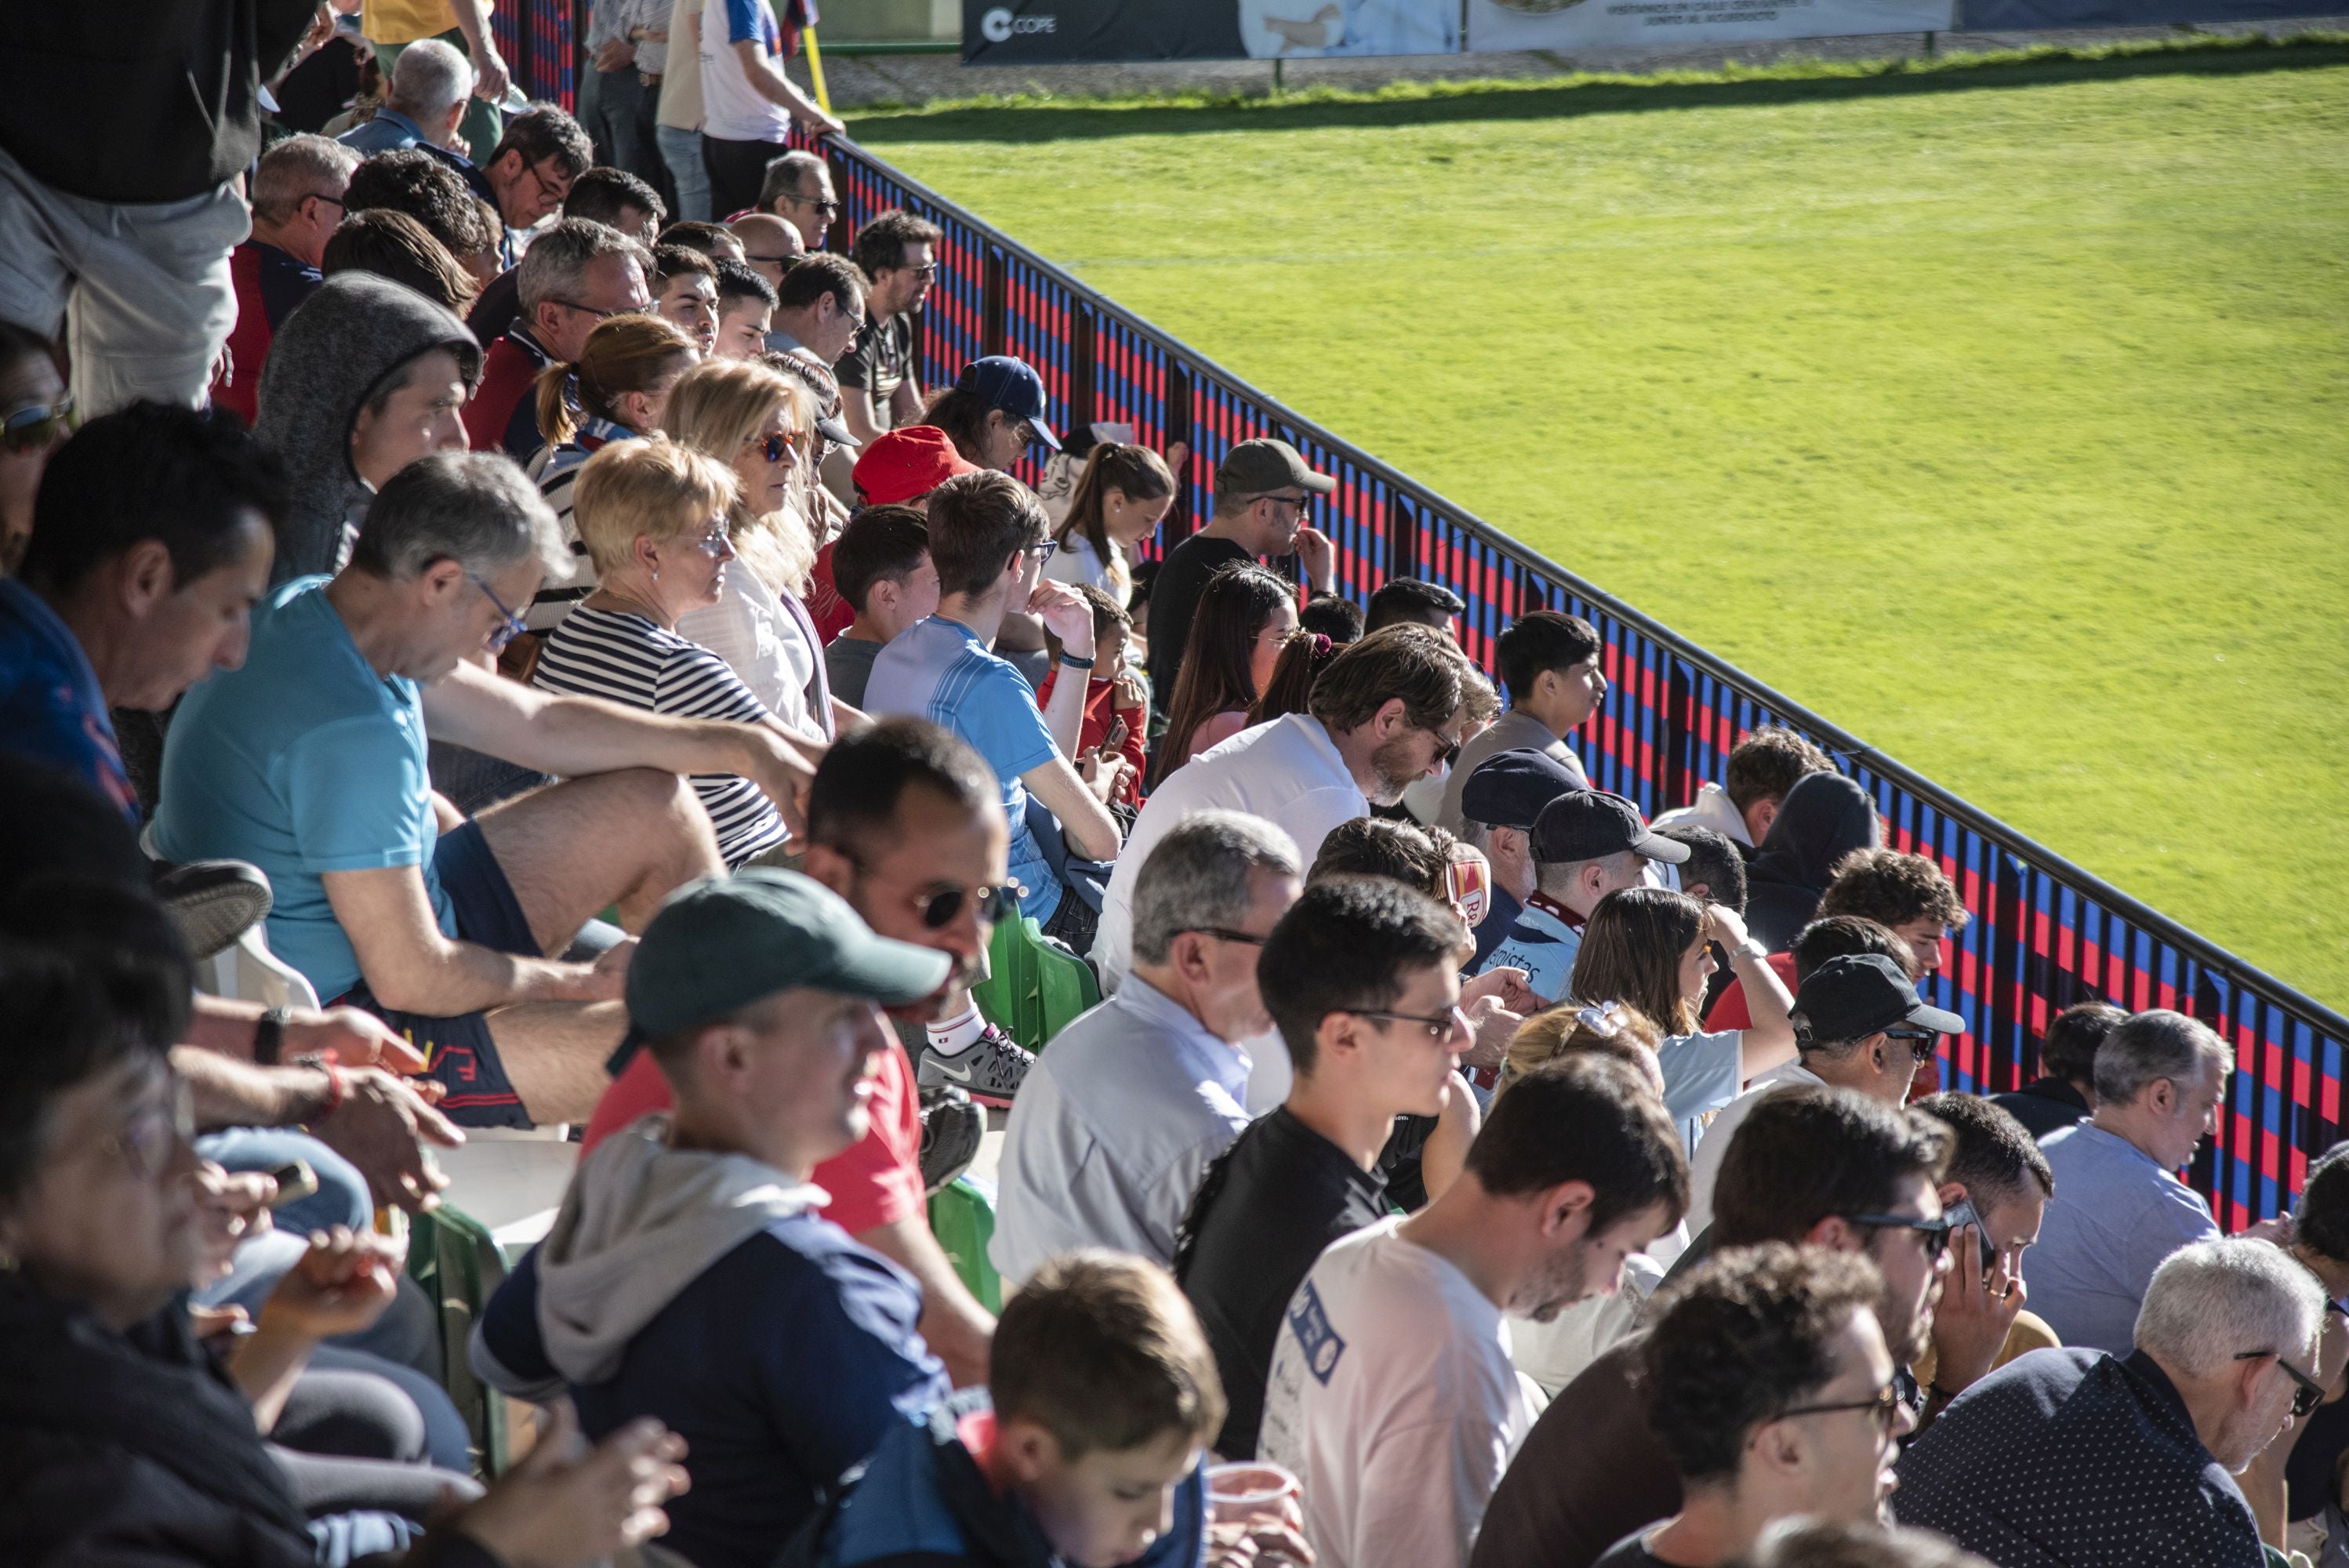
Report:
[[[954,730],[987,758],[1012,824],[1012,878],[1027,890],[1019,913],[1038,922],[1059,908],[1059,878],[1027,826],[1019,775],[1059,756],[1027,678],[998,660],[980,634],[933,615],[890,638],[864,681],[864,711],[909,714]]]

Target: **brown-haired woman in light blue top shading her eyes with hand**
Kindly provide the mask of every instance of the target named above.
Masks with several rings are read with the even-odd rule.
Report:
[[[1752,998],[1752,1026],[1719,1033],[1698,1030],[1705,981],[1719,962],[1712,944],[1729,948],[1729,962]],[[1663,1106],[1680,1122],[1689,1150],[1703,1134],[1703,1117],[1738,1096],[1748,1077],[1759,1077],[1795,1059],[1795,998],[1748,939],[1736,911],[1705,906],[1665,887],[1623,887],[1590,911],[1583,946],[1574,958],[1569,995],[1581,1005],[1623,1002],[1663,1030],[1656,1063],[1663,1068]]]

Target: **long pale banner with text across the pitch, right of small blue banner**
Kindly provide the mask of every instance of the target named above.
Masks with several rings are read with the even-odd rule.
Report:
[[[1468,49],[1677,49],[1945,33],[1954,0],[1468,0]]]

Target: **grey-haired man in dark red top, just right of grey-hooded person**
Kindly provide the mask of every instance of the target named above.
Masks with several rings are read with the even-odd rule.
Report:
[[[545,446],[538,432],[538,373],[573,364],[606,317],[651,310],[651,254],[592,218],[564,218],[531,242],[514,270],[521,319],[482,359],[482,387],[465,404],[474,451],[505,451],[529,462]]]

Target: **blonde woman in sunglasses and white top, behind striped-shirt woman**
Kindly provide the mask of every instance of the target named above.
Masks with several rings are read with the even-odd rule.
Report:
[[[679,631],[726,660],[787,728],[832,739],[862,714],[834,702],[801,603],[815,542],[792,505],[792,474],[808,458],[813,423],[815,401],[799,383],[752,359],[712,359],[669,392],[662,430],[733,469],[726,526],[747,568],[728,573],[719,601],[686,615]]]

